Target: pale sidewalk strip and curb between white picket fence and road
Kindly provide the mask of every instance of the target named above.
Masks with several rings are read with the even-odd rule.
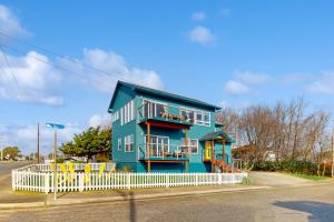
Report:
[[[0,209],[13,208],[38,208],[46,205],[67,205],[80,203],[101,203],[129,200],[144,200],[155,198],[171,198],[181,195],[199,195],[218,192],[237,192],[247,190],[268,189],[269,186],[258,185],[206,185],[206,186],[183,186],[160,189],[134,189],[134,190],[107,190],[58,193],[53,200],[53,193],[9,192],[4,199],[0,193]]]

